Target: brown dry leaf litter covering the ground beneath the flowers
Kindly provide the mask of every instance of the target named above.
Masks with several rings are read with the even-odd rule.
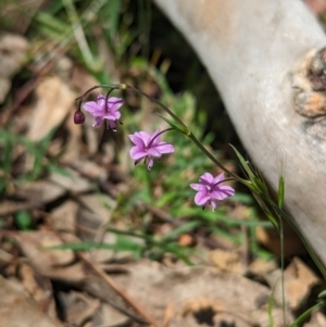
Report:
[[[13,74],[22,70],[28,45],[23,37],[5,37],[5,42],[0,39],[0,51],[2,40],[14,46],[15,55],[9,73],[0,70],[0,80],[9,85],[1,88],[0,99],[8,96]],[[84,129],[72,123],[74,99],[96,80],[66,60],[73,73],[62,75],[53,61],[51,74],[29,89],[29,100],[22,101],[12,115],[11,127],[20,139],[7,138],[14,155],[4,172],[7,192],[0,201],[0,326],[263,327],[269,326],[271,299],[274,326],[283,326],[280,271],[275,260],[251,257],[246,241],[235,246],[200,228],[189,231],[164,205],[135,200],[127,213],[121,197],[128,197],[131,188],[125,176],[129,165],[118,164],[114,148],[108,148],[108,131],[92,129],[90,120]],[[156,93],[158,88],[152,79],[145,84],[149,92]],[[131,101],[139,105],[139,99]],[[148,112],[151,105],[147,103]],[[1,122],[10,114],[5,108]],[[124,136],[110,137],[121,141],[122,153],[126,151]],[[39,159],[32,144],[38,149],[42,142],[45,156]],[[2,151],[5,144],[0,146]],[[37,175],[14,181],[36,164]],[[162,194],[160,184],[153,187],[154,193]],[[228,210],[230,216],[247,219],[246,205]],[[27,219],[25,231],[17,219],[22,211]],[[152,238],[114,231],[146,224]],[[159,261],[146,257],[156,253],[148,250],[149,244],[151,249],[162,244],[160,240],[176,228],[180,232],[173,240],[198,250],[189,252],[192,266],[168,252],[161,253]],[[243,229],[244,235],[248,230]],[[83,242],[90,244],[86,251],[78,248]],[[116,251],[118,242],[125,251]],[[277,240],[268,242],[273,248]],[[287,322],[293,320],[319,284],[304,262],[291,260],[285,271]],[[325,316],[316,312],[304,326],[326,326]]]

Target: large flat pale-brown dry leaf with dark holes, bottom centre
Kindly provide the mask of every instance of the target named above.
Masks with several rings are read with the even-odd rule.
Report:
[[[164,319],[166,305],[172,303],[174,316],[168,327],[202,326],[196,316],[197,325],[189,325],[189,303],[199,303],[199,300],[212,309],[212,319],[220,310],[241,320],[246,317],[246,324],[251,322],[258,326],[268,326],[269,289],[242,276],[218,274],[209,267],[167,269],[146,261],[130,264],[129,272],[113,278],[118,285],[124,285],[128,293],[159,322]],[[187,310],[188,315],[185,316]],[[281,310],[274,307],[273,317],[275,326],[283,325]],[[287,317],[291,320],[289,313]]]

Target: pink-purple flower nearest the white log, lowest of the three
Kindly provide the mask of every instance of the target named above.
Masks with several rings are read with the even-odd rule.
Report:
[[[205,207],[211,205],[215,211],[216,202],[222,201],[235,194],[235,190],[230,186],[223,185],[224,174],[213,177],[210,173],[204,173],[199,178],[199,184],[190,184],[190,187],[198,193],[195,196],[195,203]]]

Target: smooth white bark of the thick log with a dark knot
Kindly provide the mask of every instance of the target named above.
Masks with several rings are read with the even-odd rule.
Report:
[[[293,100],[293,79],[304,88],[298,65],[326,45],[316,18],[300,0],[155,3],[200,56],[274,190],[284,174],[286,209],[326,264],[326,121],[299,114]],[[315,105],[315,93],[302,95]]]

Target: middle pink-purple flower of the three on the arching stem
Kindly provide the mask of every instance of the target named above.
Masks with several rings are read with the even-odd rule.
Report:
[[[130,149],[130,156],[135,160],[135,165],[143,158],[148,162],[148,168],[153,166],[153,156],[160,159],[161,154],[174,152],[172,144],[161,142],[161,134],[164,131],[156,130],[152,135],[146,131],[136,131],[129,135],[129,139],[135,144]]]

